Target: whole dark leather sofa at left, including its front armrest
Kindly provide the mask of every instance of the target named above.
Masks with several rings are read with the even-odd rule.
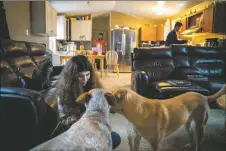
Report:
[[[57,124],[49,105],[55,98],[48,95],[55,88],[42,85],[46,72],[53,78],[63,67],[49,63],[44,44],[1,39],[0,55],[0,150],[28,150],[50,139]],[[51,70],[42,74],[43,67]]]

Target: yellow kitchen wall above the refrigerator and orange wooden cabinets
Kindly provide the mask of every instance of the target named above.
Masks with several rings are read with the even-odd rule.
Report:
[[[160,25],[160,24],[164,24],[164,20],[150,20],[150,19],[126,15],[126,14],[119,13],[119,12],[111,12],[110,27],[114,28],[115,25],[119,25],[120,27],[126,26],[126,27],[135,28],[137,46],[138,46],[138,42],[139,42],[138,30],[140,27]]]

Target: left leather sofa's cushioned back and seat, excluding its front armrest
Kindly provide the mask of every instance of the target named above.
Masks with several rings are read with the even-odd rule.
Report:
[[[13,81],[16,87],[18,87],[16,84],[18,81],[15,79],[20,81],[19,87],[41,91],[44,89],[42,84],[45,76],[49,76],[51,79],[51,77],[57,76],[62,69],[61,66],[52,66],[51,54],[47,53],[44,44],[0,40],[0,51],[1,65],[3,65],[1,70],[11,71],[10,75],[14,75]],[[44,68],[44,74],[39,73],[41,68]],[[8,72],[1,72],[1,77],[7,77]],[[51,81],[50,79],[49,81]],[[11,82],[11,86],[13,85],[14,83]]]

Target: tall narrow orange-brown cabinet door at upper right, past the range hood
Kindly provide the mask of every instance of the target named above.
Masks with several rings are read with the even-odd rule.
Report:
[[[213,7],[207,8],[203,11],[203,31],[212,32],[213,27]]]

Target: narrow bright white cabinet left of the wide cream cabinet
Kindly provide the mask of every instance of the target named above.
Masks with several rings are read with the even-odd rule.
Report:
[[[57,16],[57,40],[67,39],[67,20],[64,15]]]

